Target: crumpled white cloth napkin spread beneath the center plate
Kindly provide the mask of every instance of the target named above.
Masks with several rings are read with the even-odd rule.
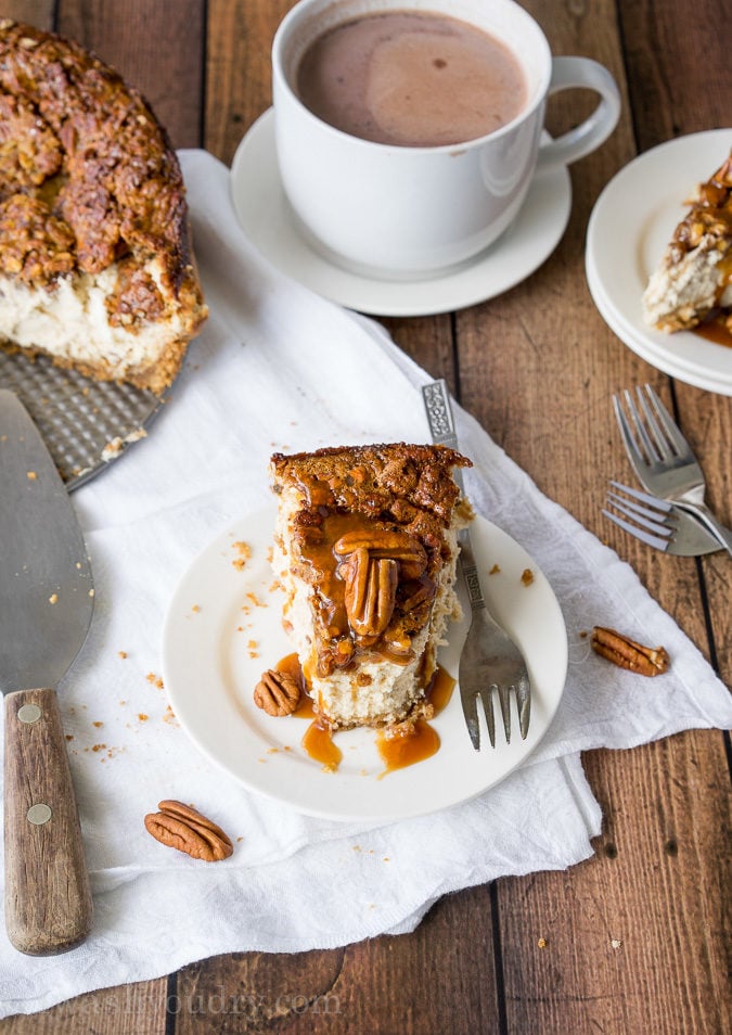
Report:
[[[374,828],[301,816],[247,792],[198,752],[157,686],[179,578],[218,533],[271,499],[274,450],[428,440],[419,385],[431,379],[376,324],[255,253],[236,225],[223,165],[197,151],[181,161],[210,319],[150,436],[73,496],[95,614],[61,705],[93,932],[72,953],[35,959],[2,930],[1,1015],[221,953],[410,931],[447,892],[591,855],[601,812],[580,751],[732,725],[724,686],[631,568],[457,408],[461,447],[475,462],[466,488],[476,510],[535,558],[567,624],[566,691],[529,764],[474,801]],[[579,631],[595,623],[664,643],[670,672],[639,688],[639,677],[589,651]],[[142,818],[160,797],[195,802],[230,833],[233,856],[206,865],[153,841]]]

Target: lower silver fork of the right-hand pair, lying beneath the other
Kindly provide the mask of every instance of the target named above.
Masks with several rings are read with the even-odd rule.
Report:
[[[721,550],[716,536],[673,503],[619,482],[611,485],[618,491],[607,493],[612,510],[603,510],[603,514],[641,542],[673,557],[703,557]]]

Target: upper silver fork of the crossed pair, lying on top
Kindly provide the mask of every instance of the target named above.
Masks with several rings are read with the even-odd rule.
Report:
[[[706,484],[691,446],[650,384],[613,396],[615,418],[638,480],[646,491],[697,518],[732,557],[732,532],[705,506]],[[630,414],[630,421],[628,416]]]

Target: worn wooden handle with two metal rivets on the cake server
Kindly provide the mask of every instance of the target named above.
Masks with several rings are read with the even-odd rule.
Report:
[[[91,927],[92,902],[53,690],[5,697],[5,924],[21,953],[64,953]]]

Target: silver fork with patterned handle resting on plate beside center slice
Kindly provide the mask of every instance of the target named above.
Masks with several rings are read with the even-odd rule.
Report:
[[[458,436],[452,420],[450,396],[445,381],[433,381],[422,388],[422,397],[434,443],[458,448]],[[455,471],[455,481],[463,491],[462,472]],[[460,568],[471,603],[467,637],[460,656],[458,682],[460,700],[471,741],[480,750],[478,698],[488,726],[491,748],[496,746],[493,691],[498,693],[506,743],[511,743],[511,695],[516,697],[518,728],[526,740],[531,716],[531,686],[526,662],[508,632],[496,622],[486,606],[480,589],[473,545],[467,528],[459,533]]]

